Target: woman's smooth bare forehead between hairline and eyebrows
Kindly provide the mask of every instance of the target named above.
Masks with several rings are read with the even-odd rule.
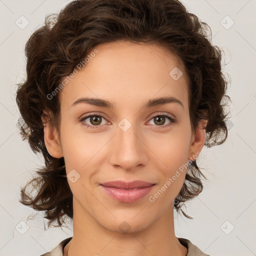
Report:
[[[168,95],[186,105],[188,85],[184,64],[165,47],[115,41],[99,44],[93,51],[97,53],[89,53],[84,68],[77,69],[61,89],[62,109],[69,108],[81,96],[118,101],[121,107],[132,101],[141,105],[148,98]]]

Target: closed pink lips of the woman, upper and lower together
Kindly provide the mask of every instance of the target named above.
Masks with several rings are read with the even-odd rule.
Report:
[[[154,185],[155,183],[141,180],[134,180],[131,182],[115,180],[100,184],[111,198],[120,202],[137,201],[148,194]]]

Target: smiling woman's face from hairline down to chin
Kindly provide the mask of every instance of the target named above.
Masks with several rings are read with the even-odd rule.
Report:
[[[188,84],[178,57],[154,44],[125,41],[96,49],[60,91],[60,141],[47,149],[54,155],[59,145],[72,176],[67,180],[74,210],[108,230],[119,231],[123,221],[131,231],[142,230],[172,210],[185,178],[180,167],[201,150],[204,136],[191,132]],[[170,73],[175,67],[183,72],[178,79]],[[171,100],[154,101],[160,97]],[[116,180],[154,185],[102,185]]]

